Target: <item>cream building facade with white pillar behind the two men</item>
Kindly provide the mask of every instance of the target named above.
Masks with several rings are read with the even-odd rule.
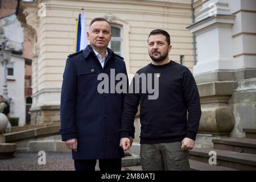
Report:
[[[116,33],[112,39],[116,44],[110,47],[125,58],[129,73],[150,63],[147,36],[151,30],[170,33],[171,59],[191,69],[199,87],[203,137],[240,136],[243,127],[255,127],[253,0],[20,2],[19,19],[33,48],[32,123],[60,121],[62,76],[67,55],[73,53],[75,19],[81,8],[87,30],[95,17],[109,20]],[[138,119],[135,124],[138,139]]]

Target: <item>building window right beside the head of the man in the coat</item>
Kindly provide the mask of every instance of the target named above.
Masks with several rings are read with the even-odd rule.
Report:
[[[111,48],[117,55],[122,56],[122,29],[117,26],[111,26],[112,39],[109,43]]]

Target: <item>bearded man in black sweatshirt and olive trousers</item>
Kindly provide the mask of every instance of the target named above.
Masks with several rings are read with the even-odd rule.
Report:
[[[188,170],[188,150],[195,146],[201,117],[200,96],[189,69],[169,59],[171,47],[168,32],[150,32],[148,53],[152,63],[137,71],[135,75],[140,79],[133,78],[123,106],[120,146],[127,150],[131,147],[129,133],[141,104],[143,170]],[[146,75],[146,80],[142,75]],[[148,92],[151,80],[157,97]]]

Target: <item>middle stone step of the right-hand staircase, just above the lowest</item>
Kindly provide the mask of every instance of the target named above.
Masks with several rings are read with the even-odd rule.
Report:
[[[256,139],[225,138],[213,139],[213,148],[256,155]]]

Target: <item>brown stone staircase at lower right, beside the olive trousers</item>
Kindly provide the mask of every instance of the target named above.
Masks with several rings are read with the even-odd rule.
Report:
[[[189,151],[190,160],[206,164],[205,169],[214,166],[216,170],[256,170],[256,128],[243,129],[243,132],[245,138],[213,139],[213,148],[194,148]],[[217,154],[216,165],[209,164],[210,151]],[[194,166],[200,170],[200,165]]]

